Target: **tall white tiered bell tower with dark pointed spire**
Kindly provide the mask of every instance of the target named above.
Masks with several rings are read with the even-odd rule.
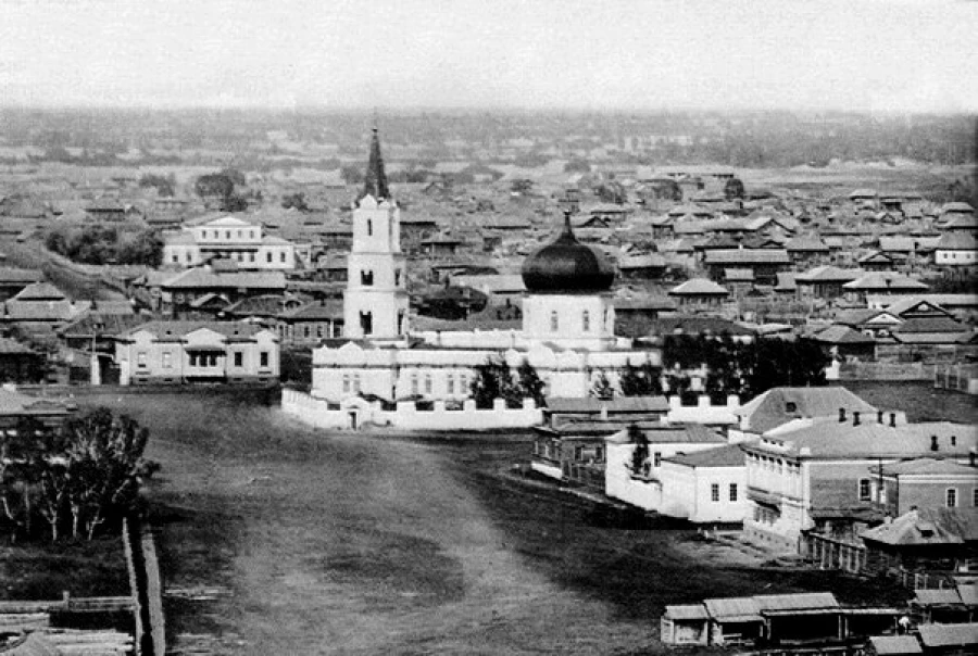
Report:
[[[397,341],[408,332],[401,210],[390,198],[376,127],[363,193],[353,210],[343,318],[343,335],[350,339]]]

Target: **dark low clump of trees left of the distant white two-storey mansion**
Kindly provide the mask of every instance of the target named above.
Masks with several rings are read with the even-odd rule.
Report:
[[[112,226],[59,226],[48,232],[49,251],[82,264],[145,264],[160,266],[163,240],[155,230],[118,230]]]

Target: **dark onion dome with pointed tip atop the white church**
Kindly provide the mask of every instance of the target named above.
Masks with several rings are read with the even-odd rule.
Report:
[[[595,293],[615,281],[615,266],[604,252],[577,241],[569,213],[560,237],[530,253],[522,273],[529,293]]]

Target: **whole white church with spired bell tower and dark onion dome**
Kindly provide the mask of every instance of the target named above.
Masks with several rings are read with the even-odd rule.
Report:
[[[312,396],[330,403],[355,395],[464,401],[475,367],[501,355],[514,369],[524,361],[532,365],[548,396],[584,398],[602,376],[616,384],[628,364],[660,364],[657,353],[615,337],[615,267],[601,250],[577,240],[569,215],[556,238],[523,263],[522,330],[412,333],[405,266],[400,209],[374,129],[353,211],[344,343],[313,351]]]

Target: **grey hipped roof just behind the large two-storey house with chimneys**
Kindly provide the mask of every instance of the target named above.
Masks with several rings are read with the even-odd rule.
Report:
[[[789,412],[793,404],[794,409]],[[876,412],[869,405],[843,387],[819,388],[772,388],[747,403],[736,414],[747,417],[747,428],[764,432],[798,417],[835,417],[839,408],[848,412]]]

